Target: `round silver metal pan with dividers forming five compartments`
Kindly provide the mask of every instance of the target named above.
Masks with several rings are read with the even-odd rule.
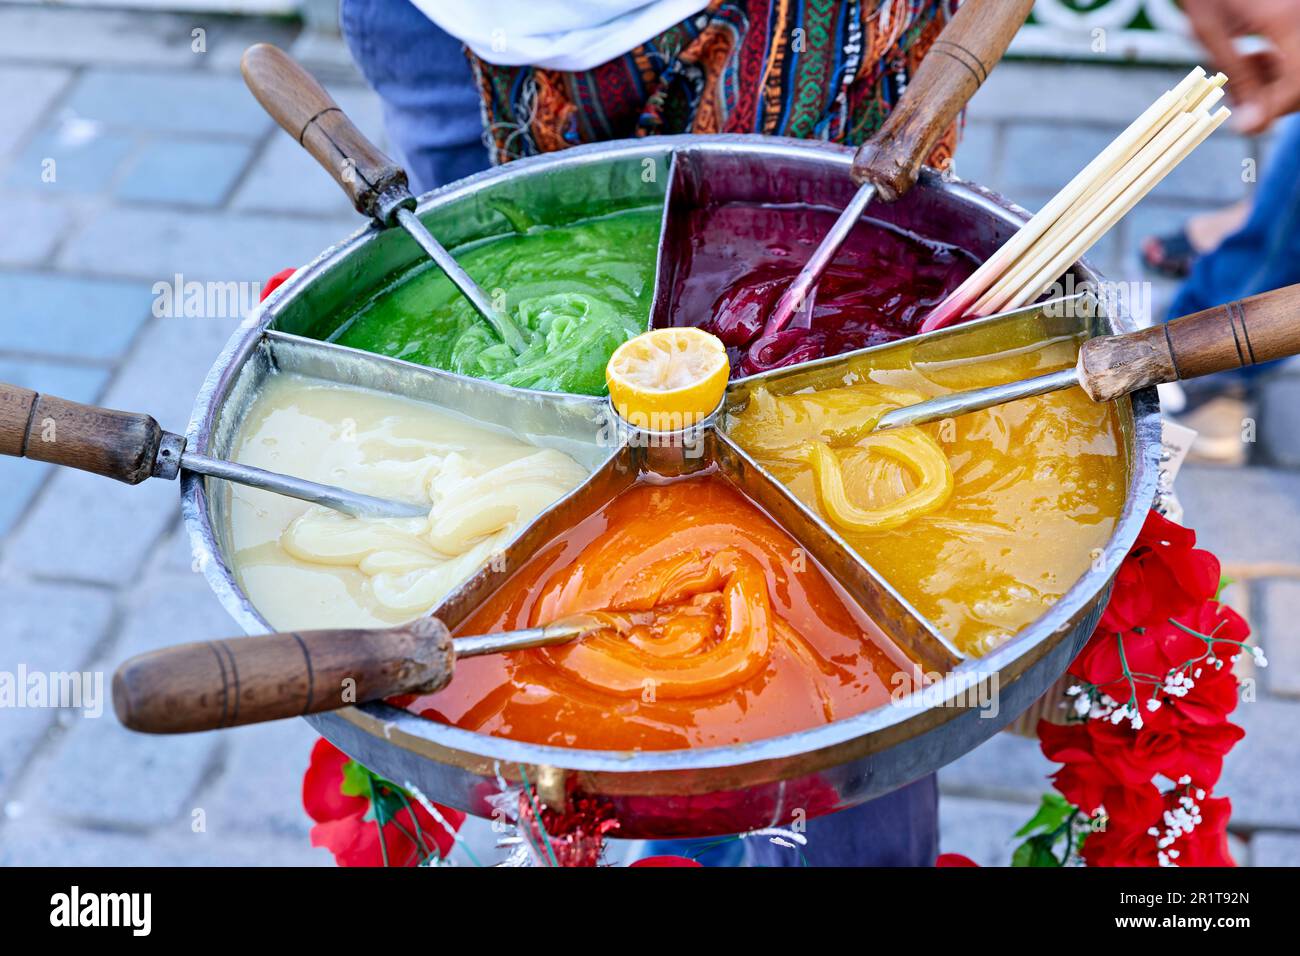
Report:
[[[671,137],[580,147],[514,163],[422,198],[419,215],[447,246],[511,232],[511,204],[559,224],[604,208],[664,203],[670,216],[698,202],[757,199],[842,206],[854,191],[852,151],[762,137]],[[1010,235],[1023,211],[998,196],[927,173],[901,202],[872,215],[988,255]],[[666,263],[673,250],[663,230],[653,317],[662,321]],[[403,233],[365,229],[321,254],[268,298],[217,359],[195,403],[190,447],[225,457],[261,382],[277,371],[422,399],[494,423],[537,445],[556,447],[593,476],[465,581],[436,609],[451,627],[555,533],[589,515],[642,470],[666,475],[720,472],[784,527],[940,688],[780,737],[733,747],[667,752],[581,750],[524,744],[422,719],[384,704],[315,715],[309,722],[377,773],[411,783],[430,800],[489,817],[491,797],[525,779],[556,805],[576,793],[604,801],[620,836],[702,836],[788,825],[870,800],[970,750],[1022,713],[1063,671],[1087,640],[1105,604],[1110,575],[1141,527],[1156,493],[1160,418],[1153,389],[1118,406],[1127,453],[1127,498],[1114,533],[1075,585],[1034,624],[979,659],[967,659],[833,529],[746,455],[711,419],[677,441],[644,441],[620,428],[606,399],[555,395],[495,385],[307,338],[332,316],[390,285],[421,254]],[[1086,265],[1080,281],[1098,282]],[[1060,313],[1057,313],[1060,312]],[[989,351],[1011,332],[1024,341],[1131,330],[1126,316],[1083,310],[1019,313],[968,323],[902,342],[737,380],[723,411],[742,405],[758,380],[777,393],[838,381],[850,368],[897,362],[907,354],[941,360]],[[686,449],[693,451],[688,451]],[[698,454],[697,454],[698,453]],[[229,490],[186,476],[182,507],[192,545],[222,605],[247,633],[270,630],[244,596],[229,563]],[[905,541],[905,538],[901,538]],[[997,691],[997,714],[982,715],[970,688]],[[996,687],[994,687],[996,685]]]

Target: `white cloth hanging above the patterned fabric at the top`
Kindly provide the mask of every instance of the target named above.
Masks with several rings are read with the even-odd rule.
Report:
[[[498,66],[581,72],[699,13],[708,0],[411,0]]]

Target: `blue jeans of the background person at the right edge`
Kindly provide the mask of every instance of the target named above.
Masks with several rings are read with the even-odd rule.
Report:
[[[1300,282],[1300,113],[1280,122],[1273,153],[1261,165],[1245,225],[1196,260],[1169,307],[1170,319]],[[1231,375],[1251,377],[1271,364]]]

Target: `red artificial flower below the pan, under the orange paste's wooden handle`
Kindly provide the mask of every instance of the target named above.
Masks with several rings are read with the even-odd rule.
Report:
[[[413,797],[408,797],[407,805],[384,825],[381,844],[370,800],[343,792],[350,763],[352,758],[324,737],[312,748],[311,763],[303,775],[303,809],[316,822],[311,832],[313,847],[325,847],[339,866],[384,866],[385,851],[389,866],[415,866],[433,849],[439,856],[451,851],[452,832],[465,814],[436,805],[445,826]],[[394,796],[389,787],[376,786],[385,797]]]

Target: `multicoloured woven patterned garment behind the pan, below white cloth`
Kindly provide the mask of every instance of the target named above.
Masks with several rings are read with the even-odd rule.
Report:
[[[858,144],[902,95],[958,0],[712,0],[584,73],[468,53],[495,163],[628,137],[763,133]],[[954,125],[930,156],[944,168]]]

